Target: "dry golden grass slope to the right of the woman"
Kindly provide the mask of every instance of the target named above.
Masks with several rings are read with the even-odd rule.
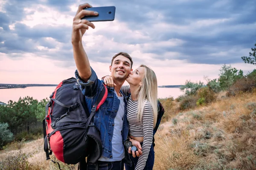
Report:
[[[178,123],[160,125],[154,169],[256,170],[256,93],[220,97],[169,119]]]

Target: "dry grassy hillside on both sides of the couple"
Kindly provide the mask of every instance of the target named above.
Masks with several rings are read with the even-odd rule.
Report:
[[[183,112],[172,99],[161,102],[166,113],[155,135],[154,170],[256,170],[256,92],[220,95],[212,104]],[[1,164],[6,169],[58,169],[45,160],[43,139],[10,144],[0,151],[0,162],[0,169]]]

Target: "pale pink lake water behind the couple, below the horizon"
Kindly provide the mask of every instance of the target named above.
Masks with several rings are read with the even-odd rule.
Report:
[[[25,96],[33,97],[34,99],[49,98],[55,87],[27,87],[27,88],[10,88],[0,89],[0,102],[8,103],[9,100],[18,101],[19,98]],[[168,98],[182,95],[183,92],[179,88],[158,88],[158,98]]]

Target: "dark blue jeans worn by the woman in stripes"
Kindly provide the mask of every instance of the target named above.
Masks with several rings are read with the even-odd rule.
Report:
[[[143,144],[140,143],[141,145]],[[143,151],[142,151],[143,152]],[[132,154],[129,154],[130,155],[130,159],[132,161],[132,166],[128,166],[127,164],[125,164],[125,170],[135,170],[135,167],[136,167],[136,164],[139,160],[139,157],[133,157]],[[143,170],[153,170],[153,166],[154,166],[154,147],[153,147],[153,144],[151,144],[151,148],[150,148],[150,151],[149,151],[149,154],[148,154],[148,159],[146,161],[146,165],[144,167]]]

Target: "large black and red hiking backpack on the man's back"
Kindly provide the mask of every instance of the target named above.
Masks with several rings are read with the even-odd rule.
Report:
[[[108,96],[104,85],[89,113],[76,78],[63,80],[50,95],[43,120],[44,151],[66,164],[95,163],[102,155],[102,142],[93,118]],[[55,161],[53,161],[55,163]]]

